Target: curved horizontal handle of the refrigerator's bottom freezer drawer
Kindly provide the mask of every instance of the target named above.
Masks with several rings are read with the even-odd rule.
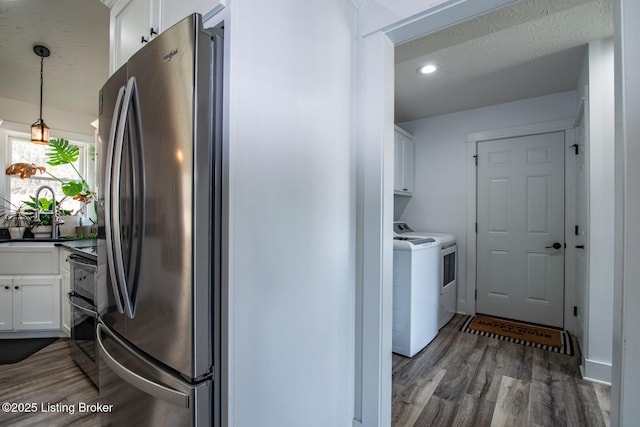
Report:
[[[150,396],[165,400],[169,403],[172,403],[174,405],[181,406],[184,408],[189,407],[188,394],[183,393],[179,390],[174,390],[172,388],[166,387],[162,384],[158,384],[154,381],[144,378],[143,376],[136,374],[135,372],[133,372],[132,370],[128,369],[127,367],[122,365],[120,362],[118,362],[111,354],[109,354],[109,352],[105,348],[104,343],[102,342],[103,332],[108,334],[109,337],[111,337],[111,339],[118,342],[118,344],[120,344],[127,350],[129,351],[132,351],[132,350],[125,342],[123,342],[121,339],[119,339],[118,337],[110,333],[103,325],[98,323],[98,326],[96,328],[96,342],[98,343],[98,349],[100,350],[100,354],[102,355],[104,362],[107,364],[107,366],[109,366],[109,368],[111,368],[111,370],[116,375],[118,375],[124,381],[131,384],[133,387],[147,393]]]

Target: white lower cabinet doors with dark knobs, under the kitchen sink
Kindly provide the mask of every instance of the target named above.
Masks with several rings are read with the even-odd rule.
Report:
[[[2,277],[0,330],[60,329],[60,277]],[[9,316],[8,313],[11,313]]]

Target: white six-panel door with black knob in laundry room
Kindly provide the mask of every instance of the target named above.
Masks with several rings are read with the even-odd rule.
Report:
[[[562,327],[564,132],[480,142],[477,215],[477,311]]]

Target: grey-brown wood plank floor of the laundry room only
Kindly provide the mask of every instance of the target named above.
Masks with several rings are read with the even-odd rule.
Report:
[[[609,426],[609,387],[578,356],[460,332],[456,316],[413,358],[393,355],[392,426]]]

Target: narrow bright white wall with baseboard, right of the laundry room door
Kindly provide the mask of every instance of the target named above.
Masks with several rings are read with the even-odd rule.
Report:
[[[589,272],[584,376],[611,382],[614,276],[613,39],[589,43],[586,174]]]

